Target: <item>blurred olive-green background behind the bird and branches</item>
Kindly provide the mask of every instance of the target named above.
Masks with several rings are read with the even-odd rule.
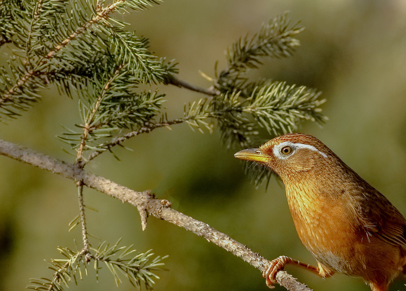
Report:
[[[323,91],[330,120],[323,127],[305,123],[300,131],[321,139],[406,215],[406,1],[172,0],[118,17],[149,37],[158,56],[176,59],[180,79],[207,87],[198,70],[213,76],[215,61],[224,67],[233,41],[285,11],[306,27],[298,36],[301,47],[291,58],[265,62],[255,74]],[[0,49],[2,63],[6,47]],[[172,86],[160,90],[168,94],[169,118],[200,97]],[[0,124],[0,138],[71,162],[55,135],[61,125],[78,122],[77,107],[77,100],[47,91],[30,112]],[[284,254],[315,263],[297,237],[283,185],[274,178],[268,190],[255,189],[233,158],[239,149],[225,148],[217,132],[200,134],[182,124],[125,145],[134,151],[117,150],[121,162],[105,154],[87,170],[135,190],[152,189],[175,209],[269,259]],[[76,189],[72,181],[6,157],[0,163],[0,290],[22,290],[29,278],[52,276],[44,259],[59,257],[58,245],[80,243],[79,229],[68,233],[78,214]],[[91,234],[169,255],[169,271],[158,274],[155,290],[268,290],[258,270],[205,239],[155,218],[142,232],[136,209],[93,190],[85,194],[85,203],[99,211],[88,211]],[[294,267],[287,271],[316,291],[369,290],[343,275],[323,280]],[[105,274],[98,284],[89,276],[71,289],[117,290]],[[134,288],[123,283],[119,290]],[[398,280],[391,290],[406,287]]]

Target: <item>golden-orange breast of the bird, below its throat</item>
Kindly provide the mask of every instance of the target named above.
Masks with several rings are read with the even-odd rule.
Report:
[[[353,275],[348,263],[353,259],[360,237],[350,201],[325,197],[300,184],[287,187],[286,192],[290,213],[304,246],[327,267]]]

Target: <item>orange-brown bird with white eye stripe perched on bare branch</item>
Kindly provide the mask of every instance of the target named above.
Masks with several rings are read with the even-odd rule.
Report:
[[[282,179],[297,234],[317,261],[272,260],[263,272],[269,288],[288,264],[322,278],[336,272],[361,277],[372,291],[387,291],[405,274],[405,217],[316,137],[288,133],[234,156]]]

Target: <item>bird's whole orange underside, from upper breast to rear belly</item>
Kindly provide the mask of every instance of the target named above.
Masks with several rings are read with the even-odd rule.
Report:
[[[287,186],[286,194],[300,240],[323,265],[377,284],[387,284],[402,271],[402,246],[367,235],[351,195],[323,195],[300,183]]]

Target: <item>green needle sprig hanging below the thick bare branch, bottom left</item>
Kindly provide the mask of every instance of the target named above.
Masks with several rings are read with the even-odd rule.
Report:
[[[96,279],[98,279],[102,264],[112,273],[117,287],[121,283],[119,273],[122,272],[138,290],[141,289],[143,283],[148,291],[152,291],[154,279],[159,279],[153,271],[162,270],[164,265],[162,260],[166,256],[152,258],[154,254],[151,250],[135,253],[136,250],[132,248],[132,245],[119,246],[119,243],[120,240],[110,246],[106,242],[102,242],[97,248],[83,248],[80,251],[58,247],[58,251],[64,258],[50,261],[49,268],[54,271],[52,279],[31,279],[27,288],[36,291],[62,291],[72,282],[77,285],[79,280],[83,280],[83,277],[88,275],[89,263],[93,261]]]

